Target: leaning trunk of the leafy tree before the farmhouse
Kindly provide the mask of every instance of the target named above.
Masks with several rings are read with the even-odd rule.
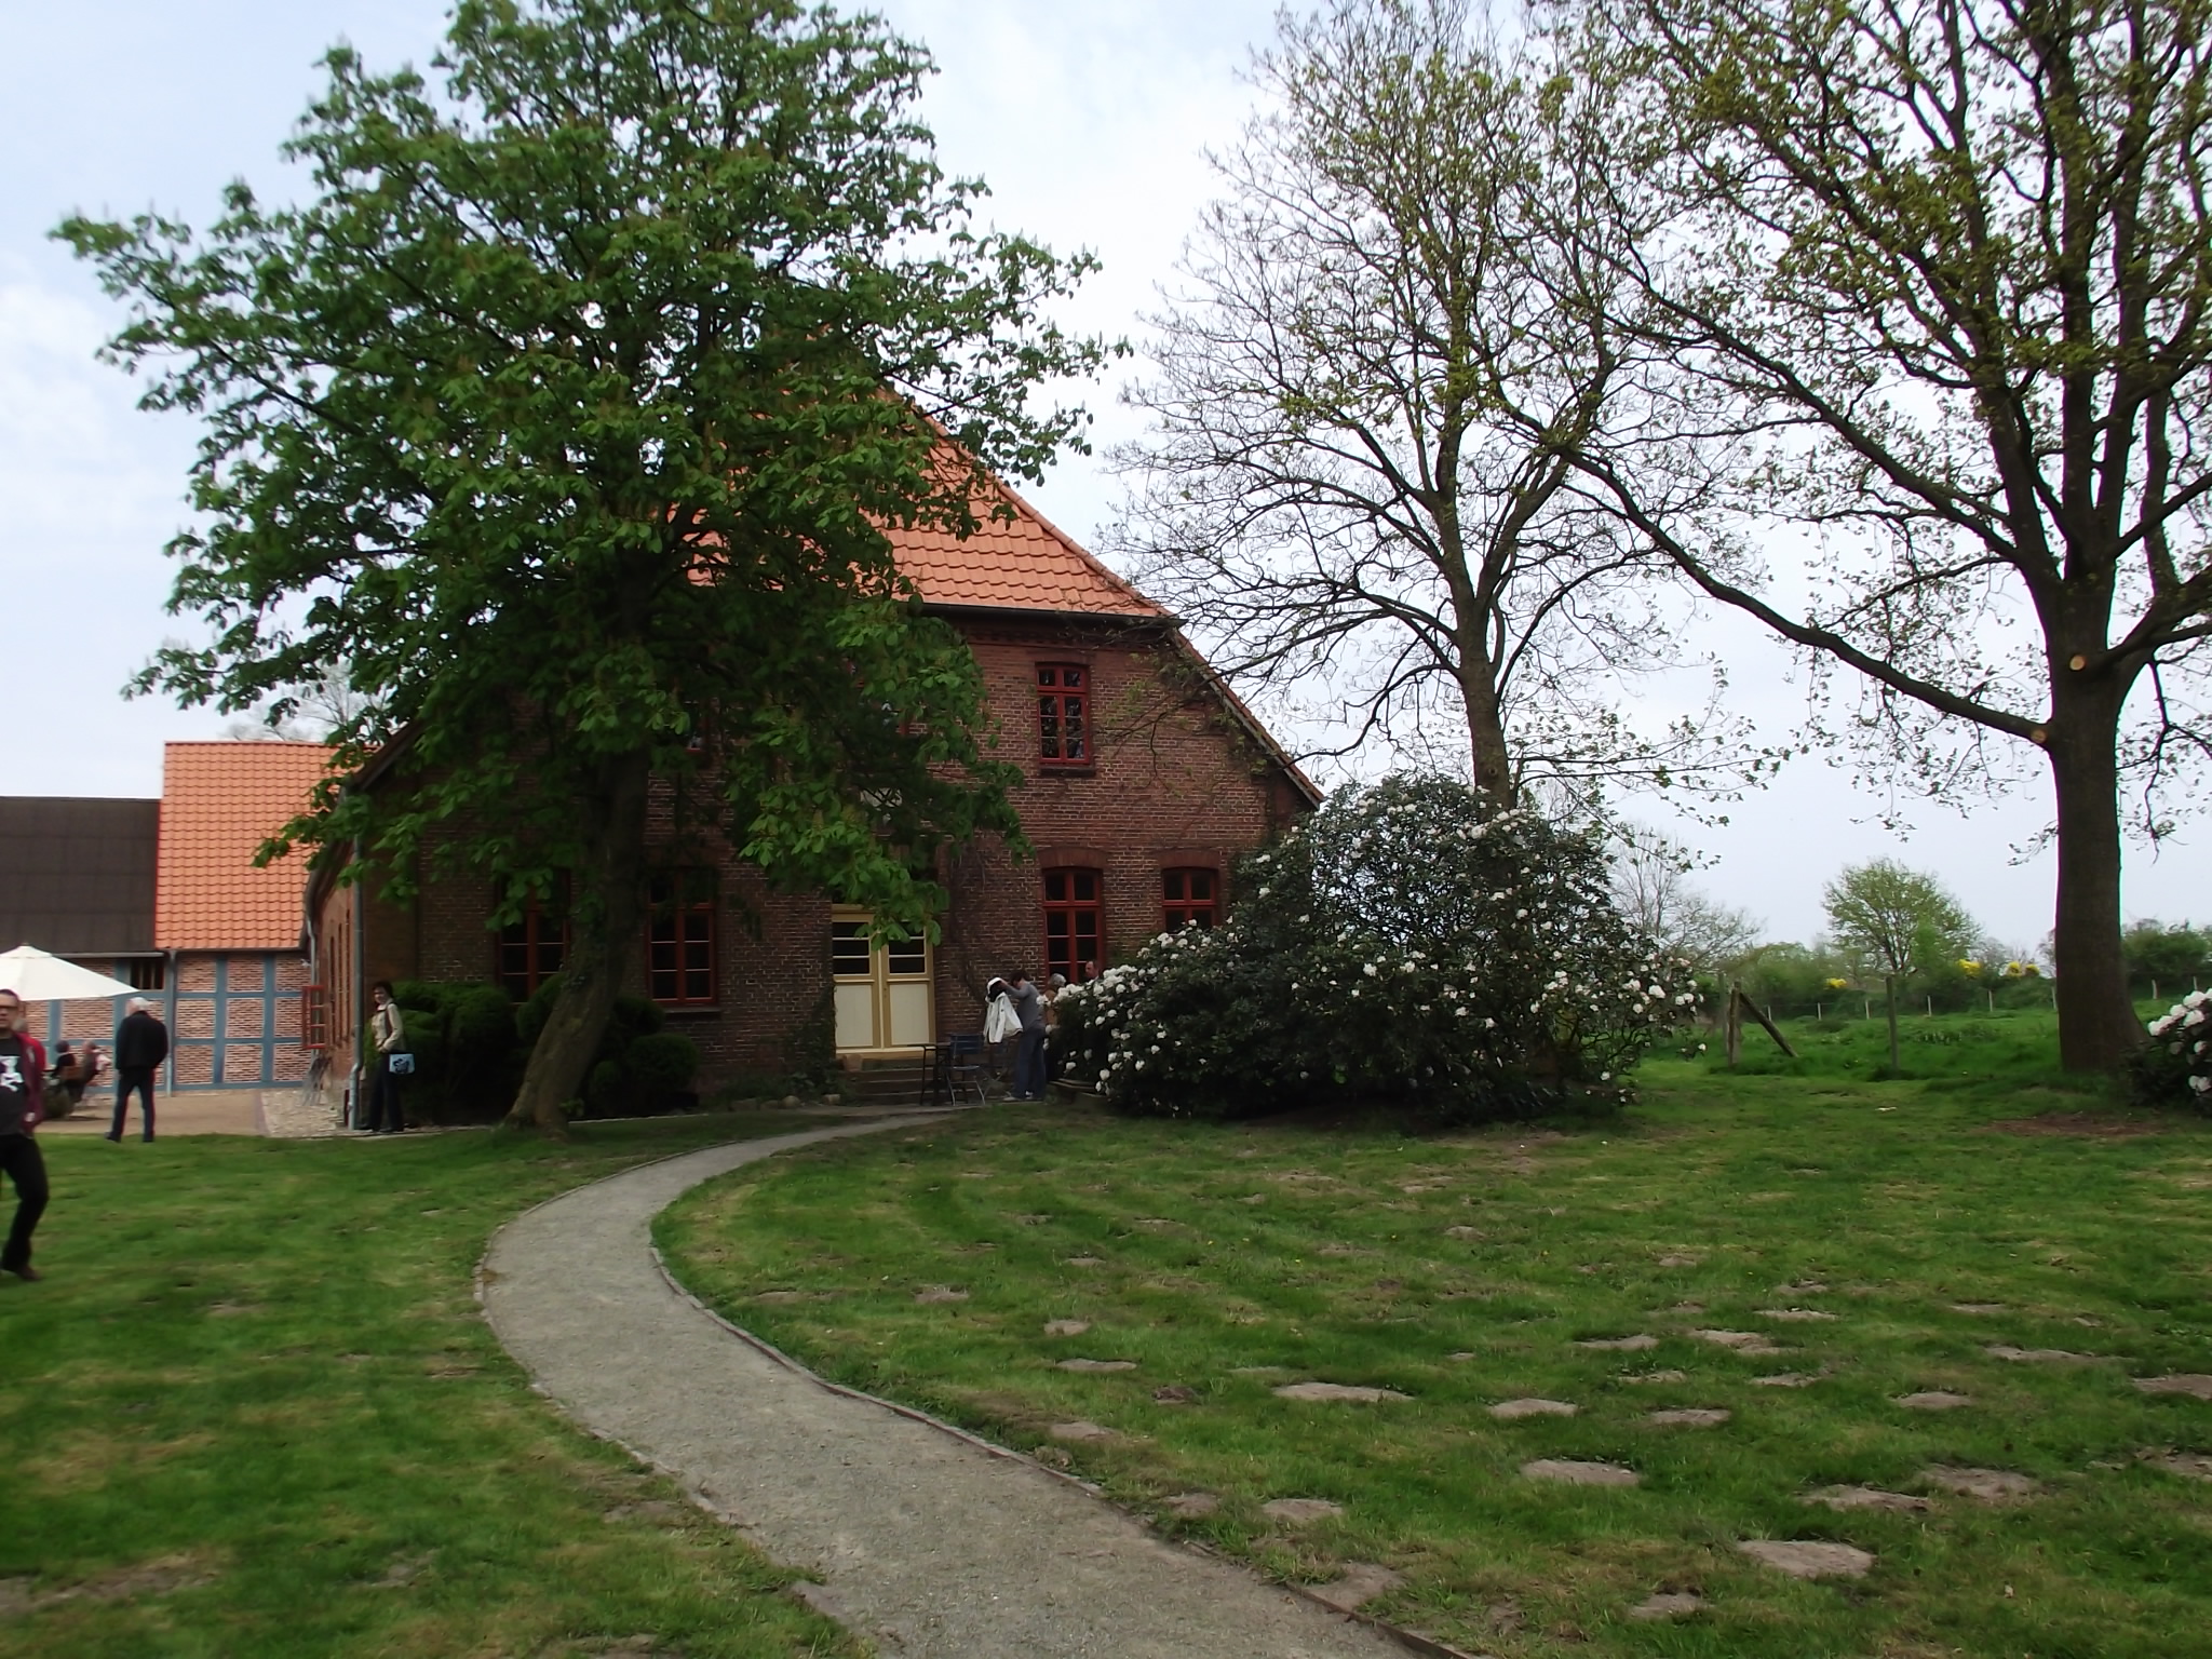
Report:
[[[577,803],[586,869],[575,872],[568,960],[562,964],[560,995],[553,998],[553,1011],[522,1073],[522,1091],[507,1115],[513,1126],[566,1137],[562,1106],[584,1093],[584,1077],[599,1053],[615,991],[622,989],[622,964],[646,911],[648,772],[644,752],[615,757],[599,768],[599,787],[591,799]]]

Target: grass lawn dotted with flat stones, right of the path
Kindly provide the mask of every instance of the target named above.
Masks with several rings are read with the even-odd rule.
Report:
[[[2194,1657],[2212,1400],[2132,1378],[2212,1371],[2212,1121],[2057,1086],[2048,1024],[1909,1031],[1905,1082],[1865,1075],[1880,1022],[1807,1024],[1772,1075],[1668,1057],[1624,1117],[1542,1130],[993,1108],[734,1172],[661,1243],[821,1371],[1283,1579],[1394,1568],[1369,1610],[1469,1650]],[[1619,1338],[1650,1343],[1586,1345]],[[1276,1394],[1310,1380],[1407,1398]],[[1522,1398],[1575,1416],[1493,1416]],[[1809,1502],[1847,1486],[1898,1506]],[[1743,1540],[1874,1566],[1801,1582]],[[1657,1593],[1697,1606],[1632,1617]]]

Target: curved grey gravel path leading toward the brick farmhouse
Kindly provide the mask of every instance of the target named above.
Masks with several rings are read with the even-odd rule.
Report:
[[[648,1228],[686,1188],[887,1126],[714,1146],[553,1199],[493,1237],[484,1314],[577,1422],[668,1469],[770,1557],[818,1577],[807,1599],[885,1655],[1402,1655],[1303,1597],[1161,1542],[1026,1460],[834,1394],[661,1281]]]

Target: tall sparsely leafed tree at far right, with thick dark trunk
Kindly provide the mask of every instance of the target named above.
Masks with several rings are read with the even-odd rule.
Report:
[[[1672,467],[1584,462],[1703,593],[1863,677],[1845,739],[1938,796],[2048,774],[2059,1051],[2112,1068],[2143,1040],[2121,790],[2161,834],[2212,754],[2212,7],[1571,0],[1562,27],[1624,100],[1624,206],[1579,239],[1661,365],[1621,396],[1679,438]],[[1776,518],[1820,580],[1770,580]]]

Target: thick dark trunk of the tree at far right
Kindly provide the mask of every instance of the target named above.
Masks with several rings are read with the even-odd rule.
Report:
[[[2143,1042],[2119,949],[2119,703],[2101,686],[2062,686],[2046,750],[2057,794],[2059,1064],[2115,1071]]]

